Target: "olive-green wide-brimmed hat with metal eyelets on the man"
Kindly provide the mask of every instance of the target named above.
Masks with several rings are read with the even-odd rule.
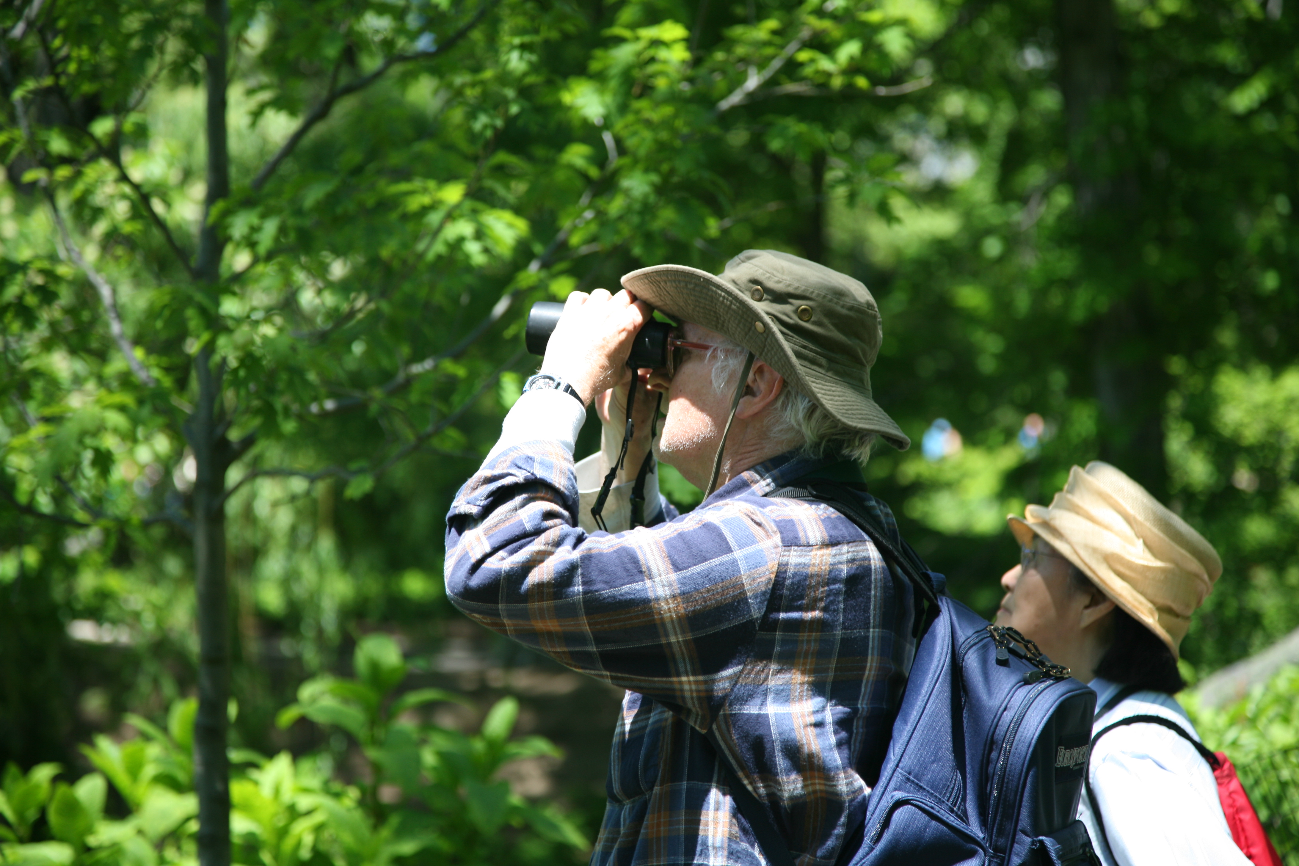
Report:
[[[839,422],[911,440],[870,393],[883,330],[876,299],[859,280],[770,249],[748,249],[713,275],[685,265],[634,270],[622,286],[668,315],[744,347]]]

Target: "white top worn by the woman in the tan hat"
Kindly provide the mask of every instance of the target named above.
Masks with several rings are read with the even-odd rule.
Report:
[[[1100,678],[1089,686],[1096,692],[1096,706],[1104,706],[1122,688]],[[1150,691],[1125,697],[1096,719],[1092,736],[1130,715],[1159,715],[1200,739],[1173,697]],[[1251,866],[1231,841],[1213,770],[1176,732],[1159,724],[1117,727],[1096,743],[1089,773],[1109,848],[1086,792],[1078,818],[1105,866]]]

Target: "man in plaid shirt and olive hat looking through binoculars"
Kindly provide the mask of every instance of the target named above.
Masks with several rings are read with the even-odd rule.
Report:
[[[878,308],[860,282],[770,251],[622,286],[568,299],[457,493],[448,596],[627,689],[592,862],[764,863],[774,824],[794,860],[833,863],[860,837],[917,602],[856,523],[779,492],[835,482],[900,544],[860,469],[876,439],[909,444],[872,399]],[[573,452],[598,396],[592,497]],[[659,457],[705,491],[688,514],[657,493],[661,405]]]

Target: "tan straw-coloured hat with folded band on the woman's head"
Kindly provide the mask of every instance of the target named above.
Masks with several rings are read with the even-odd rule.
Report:
[[[1116,605],[1178,656],[1191,614],[1213,589],[1222,561],[1213,545],[1144,487],[1094,460],[1069,470],[1051,505],[1007,517],[1028,547],[1042,536]]]

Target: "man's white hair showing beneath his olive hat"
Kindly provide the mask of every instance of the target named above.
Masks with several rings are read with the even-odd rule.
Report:
[[[718,393],[734,396],[747,353],[729,340],[708,351],[713,361],[713,388]],[[770,435],[777,441],[788,441],[791,449],[807,457],[838,454],[859,464],[870,460],[870,449],[876,445],[876,434],[853,430],[834,418],[788,380],[772,406]]]

